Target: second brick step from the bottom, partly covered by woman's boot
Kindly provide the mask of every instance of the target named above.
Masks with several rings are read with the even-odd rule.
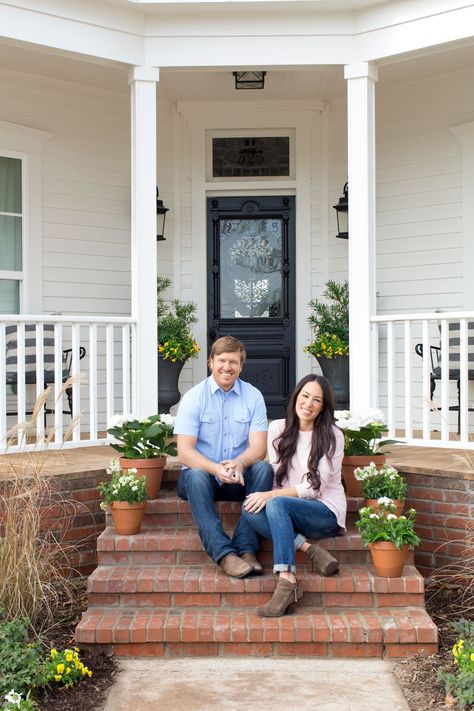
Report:
[[[302,607],[424,607],[424,582],[407,565],[400,578],[380,578],[372,566],[343,565],[324,577],[305,570],[298,574],[304,591]],[[122,607],[255,607],[275,588],[271,570],[238,580],[215,565],[99,566],[88,580],[89,606]]]

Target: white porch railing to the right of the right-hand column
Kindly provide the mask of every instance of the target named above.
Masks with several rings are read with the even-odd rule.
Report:
[[[389,436],[407,444],[474,449],[469,438],[474,312],[375,316],[371,321],[377,331],[378,406],[387,414]],[[417,344],[422,358],[415,352]]]

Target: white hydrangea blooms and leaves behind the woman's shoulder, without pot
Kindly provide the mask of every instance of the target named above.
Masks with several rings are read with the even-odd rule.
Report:
[[[397,442],[396,439],[380,439],[388,431],[382,410],[336,410],[334,418],[337,427],[344,433],[344,454],[347,456],[377,455],[381,447]]]

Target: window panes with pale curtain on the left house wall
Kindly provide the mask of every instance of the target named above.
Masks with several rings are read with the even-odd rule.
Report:
[[[22,281],[22,160],[0,155],[0,313],[20,313]]]

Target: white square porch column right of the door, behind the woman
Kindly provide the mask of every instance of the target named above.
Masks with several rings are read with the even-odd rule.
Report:
[[[349,363],[352,410],[374,407],[375,314],[375,82],[369,62],[344,67],[347,79],[349,181]]]

